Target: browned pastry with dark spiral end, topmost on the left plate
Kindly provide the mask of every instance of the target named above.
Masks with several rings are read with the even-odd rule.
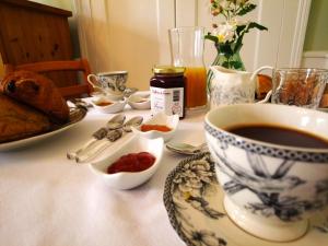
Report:
[[[66,101],[54,82],[42,74],[23,70],[8,73],[0,84],[0,92],[44,112],[51,121],[69,120]]]

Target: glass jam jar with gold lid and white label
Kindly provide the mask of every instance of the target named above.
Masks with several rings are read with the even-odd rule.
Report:
[[[185,118],[185,68],[155,66],[150,80],[151,110]]]

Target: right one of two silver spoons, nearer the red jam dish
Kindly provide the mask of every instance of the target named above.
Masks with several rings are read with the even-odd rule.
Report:
[[[142,121],[143,121],[143,117],[136,116],[129,119],[121,128],[108,131],[106,138],[104,138],[99,142],[99,144],[97,144],[95,148],[91,149],[86,153],[77,155],[75,157],[77,163],[85,163],[86,161],[92,160],[102,151],[104,151],[108,147],[108,144],[120,139],[124,132],[126,133],[131,132],[132,131],[131,127],[138,127],[139,125],[142,124]]]

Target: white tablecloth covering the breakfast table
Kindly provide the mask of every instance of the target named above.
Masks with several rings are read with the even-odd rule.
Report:
[[[150,110],[126,107],[122,113],[151,117]],[[186,156],[165,149],[155,175],[131,190],[109,188],[87,164],[67,160],[69,150],[110,117],[90,109],[67,131],[0,153],[0,245],[185,245],[171,226],[163,191],[168,173]],[[203,117],[204,112],[187,115],[171,141],[204,142]]]

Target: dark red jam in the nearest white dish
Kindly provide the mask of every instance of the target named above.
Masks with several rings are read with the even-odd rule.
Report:
[[[149,152],[126,154],[108,166],[107,173],[141,172],[151,167],[155,163],[155,160],[156,157]]]

